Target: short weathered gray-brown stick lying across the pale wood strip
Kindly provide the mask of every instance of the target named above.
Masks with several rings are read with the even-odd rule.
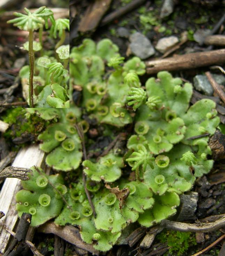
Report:
[[[0,178],[17,178],[19,180],[27,181],[29,179],[29,168],[9,166],[0,171]]]

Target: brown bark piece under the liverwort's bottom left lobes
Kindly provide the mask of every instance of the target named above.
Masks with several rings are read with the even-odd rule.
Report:
[[[60,227],[56,226],[54,222],[47,222],[38,228],[38,232],[43,232],[46,234],[53,233],[81,249],[87,250],[95,255],[99,254],[99,252],[95,250],[91,244],[86,244],[82,241],[79,229],[73,226]]]

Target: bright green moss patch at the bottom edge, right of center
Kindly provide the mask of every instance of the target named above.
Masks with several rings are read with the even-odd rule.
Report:
[[[156,236],[156,239],[162,243],[167,243],[170,255],[181,256],[188,250],[190,246],[196,245],[194,233],[163,231]]]

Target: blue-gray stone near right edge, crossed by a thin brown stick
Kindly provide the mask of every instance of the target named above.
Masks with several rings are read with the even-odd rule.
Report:
[[[212,74],[212,76],[219,85],[225,84],[224,75]],[[194,88],[196,90],[203,92],[205,95],[208,95],[208,96],[213,95],[214,90],[205,75],[196,75],[194,77],[193,82],[194,82]]]

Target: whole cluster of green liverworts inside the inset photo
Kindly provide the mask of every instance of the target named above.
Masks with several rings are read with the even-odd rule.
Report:
[[[66,30],[69,30],[69,20],[54,20],[52,10],[45,6],[31,13],[25,8],[25,14],[15,13],[16,19],[8,21],[14,23],[20,29],[29,31],[29,41],[23,45],[23,49],[29,52],[29,66],[20,70],[23,89],[23,97],[31,108],[69,108],[69,79],[68,67],[69,45],[61,45],[66,38]],[[57,31],[61,37],[60,43],[55,44],[55,59],[51,56],[53,51],[45,51],[43,42],[43,29],[48,31],[51,22],[50,36],[57,38]],[[39,42],[33,41],[34,31],[39,30]],[[61,47],[59,47],[61,45]],[[40,57],[35,61],[34,52]],[[63,68],[64,66],[64,68]],[[35,74],[35,75],[34,75]]]

